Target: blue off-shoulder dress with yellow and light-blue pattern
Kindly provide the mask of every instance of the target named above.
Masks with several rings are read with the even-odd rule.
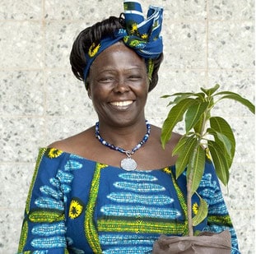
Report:
[[[151,253],[161,234],[187,234],[185,176],[175,167],[128,172],[56,149],[40,149],[26,201],[18,253]],[[198,189],[209,211],[195,230],[229,229],[212,163]],[[193,198],[197,213],[198,197]]]

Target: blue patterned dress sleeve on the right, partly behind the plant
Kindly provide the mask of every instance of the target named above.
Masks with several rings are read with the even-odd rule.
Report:
[[[226,208],[221,187],[212,161],[207,160],[202,182],[198,188],[198,194],[207,201],[208,215],[207,228],[204,231],[219,233],[226,229],[230,230],[232,250],[231,254],[239,254],[238,241],[235,229]]]

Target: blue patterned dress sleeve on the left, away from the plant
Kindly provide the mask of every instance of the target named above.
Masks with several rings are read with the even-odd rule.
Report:
[[[56,149],[40,149],[26,201],[18,254],[67,252],[65,213],[58,173],[65,156]]]

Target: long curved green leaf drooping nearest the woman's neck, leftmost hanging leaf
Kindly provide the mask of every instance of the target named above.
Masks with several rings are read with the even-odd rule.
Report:
[[[186,98],[170,109],[161,130],[161,144],[163,148],[165,148],[167,141],[170,140],[175,125],[182,121],[184,113],[193,103],[194,99]]]

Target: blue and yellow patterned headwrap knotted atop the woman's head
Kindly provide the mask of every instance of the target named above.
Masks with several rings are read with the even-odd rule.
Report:
[[[91,44],[86,53],[86,67],[84,80],[95,58],[111,45],[123,40],[123,43],[132,48],[139,56],[146,59],[149,78],[153,72],[152,59],[158,58],[163,52],[163,43],[160,35],[163,20],[163,8],[150,6],[147,19],[144,19],[142,6],[138,1],[123,1],[126,29],[119,29],[114,36],[100,40],[99,44]]]

